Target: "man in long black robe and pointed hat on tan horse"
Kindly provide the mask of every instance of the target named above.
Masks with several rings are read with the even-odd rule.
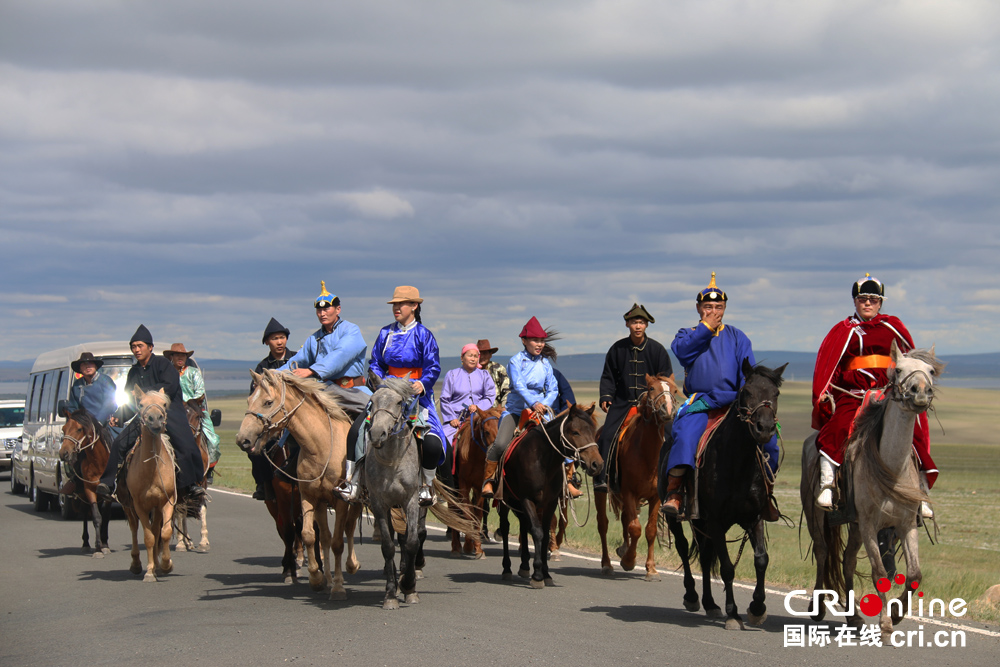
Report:
[[[161,355],[153,354],[153,336],[144,325],[140,324],[129,341],[136,363],[129,369],[125,379],[125,392],[132,397],[132,388],[139,387],[143,391],[163,389],[170,398],[170,408],[167,410],[167,435],[177,455],[177,488],[179,498],[198,501],[205,495],[205,489],[198,485],[205,476],[201,452],[188,425],[187,414],[184,411],[184,398],[181,394],[181,378],[177,369],[170,361]],[[139,439],[142,425],[139,419],[133,418],[121,434],[115,438],[111,446],[108,465],[101,475],[101,483],[97,485],[97,493],[110,496],[115,486],[118,466],[125,453]]]

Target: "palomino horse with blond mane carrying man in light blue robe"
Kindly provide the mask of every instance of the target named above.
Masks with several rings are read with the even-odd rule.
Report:
[[[296,377],[289,372],[264,369],[250,372],[256,390],[247,398],[246,416],[236,434],[236,443],[244,451],[260,454],[268,438],[288,429],[299,443],[298,481],[302,500],[302,545],[309,556],[309,585],[313,590],[330,589],[331,600],[346,600],[342,570],[344,542],[347,542],[347,571],[358,571],[354,553],[354,527],[361,506],[349,504],[336,487],[343,478],[347,456],[347,432],[351,419],[333,394],[312,378]],[[336,512],[333,533],[327,521],[327,507]],[[325,574],[316,557],[316,528],[322,545]],[[333,573],[330,552],[333,551]]]

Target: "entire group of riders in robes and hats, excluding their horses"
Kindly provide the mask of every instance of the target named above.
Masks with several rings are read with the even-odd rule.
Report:
[[[866,274],[853,284],[852,297],[855,312],[827,334],[820,346],[813,375],[812,425],[819,430],[817,447],[821,453],[817,503],[826,509],[832,509],[835,468],[843,459],[844,447],[865,391],[888,384],[889,351],[893,341],[904,352],[914,347],[903,323],[894,316],[880,313],[885,287],[878,279]],[[756,363],[753,346],[746,334],[723,324],[728,300],[712,273],[708,286],[695,297],[699,322],[694,327],[679,330],[670,346],[684,367],[684,393],[687,395],[674,416],[670,433],[664,434],[665,445],[670,450],[665,499],[660,509],[670,516],[684,518],[683,497],[690,492],[696,452],[709,413],[735,401],[744,381],[743,362],[748,361],[751,366]],[[379,331],[366,362],[367,345],[360,328],[341,318],[340,298],[328,292],[326,283],[321,282],[320,294],[314,301],[320,328],[293,354],[287,345],[289,330],[271,318],[262,338],[269,354],[257,364],[257,372],[271,369],[315,378],[327,384],[328,390],[336,393],[342,402],[355,406],[353,411],[349,410],[356,417],[348,436],[344,479],[338,488],[348,501],[359,498],[358,461],[365,450],[365,424],[369,417],[365,406],[373,382],[386,376],[406,378],[416,390],[417,401],[411,409],[416,423],[421,425],[418,432],[421,434],[424,484],[419,500],[425,506],[433,502],[431,482],[439,466],[448,458],[461,422],[469,415],[502,406],[497,437],[487,452],[483,493],[491,497],[498,481],[498,462],[518,427],[523,426],[526,419],[546,421],[575,402],[569,383],[552,365],[551,360],[556,357],[551,345],[557,339],[555,332],[543,328],[535,317],[528,320],[520,333],[523,349],[511,357],[506,369],[492,361],[498,348],[491,347],[488,339],[463,347],[462,366],[445,377],[441,410],[446,419],[442,423],[434,405],[434,385],[441,373],[439,350],[434,335],[420,321],[423,303],[420,292],[415,287],[400,286],[387,303],[392,308],[394,321]],[[668,377],[671,382],[674,376],[666,349],[646,335],[647,327],[655,320],[645,307],[633,304],[624,320],[629,335],[608,350],[600,381],[600,407],[607,418],[598,446],[605,459],[626,418],[634,412],[646,390],[646,375]],[[188,394],[200,392],[202,398],[204,396],[200,372],[192,372],[197,369],[186,368],[184,363],[192,353],[177,344],[164,356],[154,355],[152,335],[142,325],[132,336],[130,346],[136,363],[128,373],[125,390],[131,392],[134,386],[145,391],[162,388],[171,398],[167,433],[177,453],[178,488],[181,495],[198,499],[204,495],[204,489],[198,485],[204,470],[183,407],[186,399],[197,398]],[[171,357],[175,363],[171,363]],[[110,378],[97,372],[101,364],[86,352],[73,362],[73,370],[81,377],[73,383],[71,409],[85,408],[102,424],[116,428],[119,425],[113,416],[115,386]],[[188,373],[190,376],[185,383]],[[251,394],[254,389],[251,386]],[[212,458],[217,460],[218,437],[211,431],[211,422],[204,421],[208,424],[206,440],[215,445]],[[124,425],[118,432],[98,486],[99,493],[112,493],[118,466],[137,438],[137,420]],[[285,439],[288,439],[287,432],[277,444],[284,444]],[[288,440],[286,470],[294,476],[296,446],[294,441]],[[917,421],[913,442],[926,492],[938,472],[930,457],[926,415],[921,415]],[[274,444],[269,443],[269,446]],[[274,468],[264,454],[250,454],[249,457],[257,483],[254,497],[265,499]],[[779,464],[777,436],[763,446],[763,457],[771,473],[770,502],[764,518],[776,521],[779,513],[772,490]],[[607,489],[607,470],[608,466],[596,478],[595,489]],[[570,492],[579,494],[572,486]],[[925,517],[932,516],[927,503],[921,512]]]

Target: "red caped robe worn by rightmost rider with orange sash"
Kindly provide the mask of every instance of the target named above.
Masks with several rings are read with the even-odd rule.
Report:
[[[889,356],[894,340],[902,352],[914,348],[913,338],[899,318],[876,315],[863,322],[852,316],[838,322],[820,345],[813,372],[812,426],[819,430],[816,440],[819,451],[838,465],[843,461],[847,436],[864,392],[889,384],[887,368],[851,369],[849,366],[857,357]],[[920,469],[927,473],[928,484],[934,486],[938,470],[931,459],[926,414],[917,417],[913,448],[920,460]]]

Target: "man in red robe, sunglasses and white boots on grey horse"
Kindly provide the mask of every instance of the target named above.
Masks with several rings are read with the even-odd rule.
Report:
[[[820,451],[816,504],[824,509],[833,507],[834,467],[844,459],[851,425],[865,392],[889,384],[892,342],[896,341],[902,352],[914,348],[913,338],[899,318],[879,312],[885,287],[877,278],[865,274],[851,292],[855,313],[838,322],[823,339],[813,372],[812,426],[819,430],[816,446]],[[921,486],[927,491],[934,486],[938,470],[931,459],[926,414],[917,418],[913,448],[920,460]],[[923,503],[921,514],[932,517],[930,505]]]

